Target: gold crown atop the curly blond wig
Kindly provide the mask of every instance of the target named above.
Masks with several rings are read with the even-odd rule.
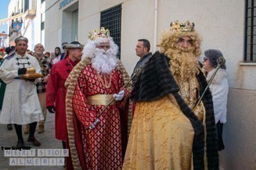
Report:
[[[181,30],[184,32],[191,32],[194,31],[195,24],[190,23],[189,20],[186,23],[178,23],[178,20],[175,22],[171,22],[170,24],[171,30]]]

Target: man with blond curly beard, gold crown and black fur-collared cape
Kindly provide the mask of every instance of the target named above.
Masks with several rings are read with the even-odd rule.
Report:
[[[211,92],[198,64],[194,24],[171,23],[135,83],[136,102],[123,169],[218,169]]]

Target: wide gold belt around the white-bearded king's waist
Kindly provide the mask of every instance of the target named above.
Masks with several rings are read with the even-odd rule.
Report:
[[[92,96],[87,96],[87,103],[96,105],[107,105],[112,99],[113,94],[96,94]],[[111,104],[116,104],[116,101],[112,101]]]

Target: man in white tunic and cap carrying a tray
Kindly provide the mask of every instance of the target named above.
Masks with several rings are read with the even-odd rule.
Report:
[[[27,141],[40,147],[41,143],[34,137],[37,122],[44,119],[36,89],[40,78],[25,74],[27,69],[34,69],[39,74],[41,67],[37,58],[27,54],[27,37],[17,37],[15,43],[16,51],[9,54],[0,67],[0,78],[6,83],[0,123],[14,124],[18,136],[16,147],[24,147],[22,125],[30,124]]]

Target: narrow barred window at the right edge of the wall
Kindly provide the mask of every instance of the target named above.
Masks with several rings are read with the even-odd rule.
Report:
[[[256,62],[256,1],[245,1],[244,62]]]

